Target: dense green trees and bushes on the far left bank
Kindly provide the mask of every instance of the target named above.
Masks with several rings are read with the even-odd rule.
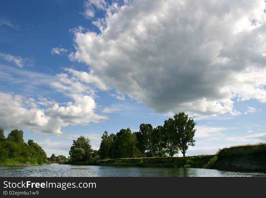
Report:
[[[12,130],[8,137],[0,129],[0,164],[44,164],[47,156],[41,146],[33,140],[24,142],[22,130]]]

